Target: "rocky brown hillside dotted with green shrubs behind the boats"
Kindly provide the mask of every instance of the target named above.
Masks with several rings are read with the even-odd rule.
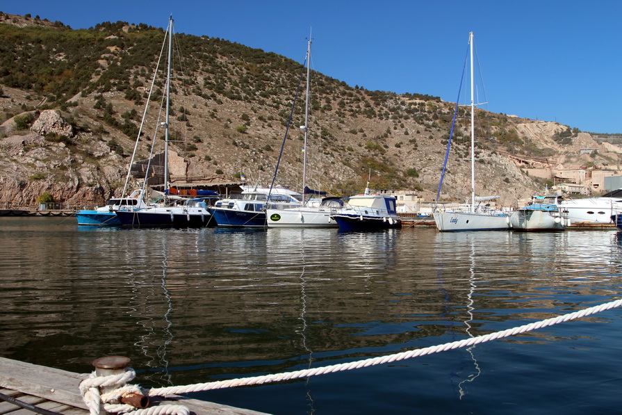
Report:
[[[137,152],[162,150],[158,107],[163,81],[154,70],[164,32],[145,24],[104,22],[72,30],[60,22],[0,12],[0,201],[101,203],[119,195]],[[174,60],[173,174],[236,177],[266,183],[284,141],[302,65],[218,38],[177,35]],[[302,47],[306,45],[302,44]],[[160,63],[162,67],[163,63]],[[304,90],[304,88],[302,88]],[[309,186],[347,195],[365,187],[410,190],[433,200],[455,104],[416,93],[370,91],[313,72]],[[511,108],[508,108],[511,111]],[[443,185],[445,200],[470,193],[468,111],[460,117]],[[477,110],[477,193],[503,204],[541,190],[536,161],[560,168],[617,168],[619,147],[554,122]],[[285,140],[279,184],[300,187],[304,97]],[[159,147],[159,148],[158,148]],[[580,155],[580,149],[598,149]],[[550,186],[550,183],[549,183]]]

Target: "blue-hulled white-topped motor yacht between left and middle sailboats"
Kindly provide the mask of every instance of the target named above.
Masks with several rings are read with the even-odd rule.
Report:
[[[265,207],[269,202],[275,209],[302,206],[302,195],[293,190],[275,187],[242,186],[240,195],[219,200],[212,208],[220,227],[268,227]]]

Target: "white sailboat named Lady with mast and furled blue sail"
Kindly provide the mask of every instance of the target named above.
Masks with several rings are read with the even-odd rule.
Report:
[[[471,169],[471,197],[470,204],[463,211],[446,211],[439,209],[432,214],[436,228],[439,231],[492,231],[509,229],[509,216],[507,213],[489,209],[488,204],[478,206],[475,202],[485,202],[487,200],[496,199],[497,196],[491,197],[475,197],[475,101],[473,97],[474,81],[473,81],[473,32],[468,35],[469,55],[470,55],[470,169]],[[457,109],[456,104],[456,109]],[[455,111],[455,114],[457,111]],[[455,115],[454,115],[455,118]],[[453,126],[452,126],[453,132]],[[450,133],[451,138],[451,133]],[[449,152],[449,144],[448,150]],[[445,157],[445,164],[447,158]],[[443,165],[443,174],[445,165]],[[441,175],[441,184],[439,184],[439,194],[443,184]],[[438,201],[438,196],[436,200]]]

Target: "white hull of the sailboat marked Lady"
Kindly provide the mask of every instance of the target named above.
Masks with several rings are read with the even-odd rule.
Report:
[[[509,229],[509,217],[503,213],[439,211],[432,214],[439,231],[499,231]]]

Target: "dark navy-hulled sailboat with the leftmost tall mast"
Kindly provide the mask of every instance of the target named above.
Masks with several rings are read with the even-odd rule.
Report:
[[[169,119],[170,119],[170,82],[171,60],[173,44],[173,18],[170,17],[167,26],[168,36],[168,60],[166,74],[166,112],[164,139],[164,186],[169,188],[168,183],[168,143],[169,143]],[[156,139],[154,138],[154,143]],[[147,180],[145,179],[145,184]],[[186,200],[183,204],[161,206],[149,206],[137,211],[115,211],[117,218],[125,227],[206,227],[215,225],[211,220],[211,212],[204,200],[195,198]]]

